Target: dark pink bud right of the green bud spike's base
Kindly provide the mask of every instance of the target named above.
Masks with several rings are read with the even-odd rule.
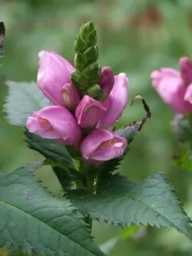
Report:
[[[113,70],[111,67],[103,67],[100,74],[100,87],[102,88],[102,92],[106,95],[109,95],[111,90],[113,89],[113,85],[115,83],[115,78],[113,76]]]

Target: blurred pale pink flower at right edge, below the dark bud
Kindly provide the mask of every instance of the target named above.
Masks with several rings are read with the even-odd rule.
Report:
[[[176,113],[189,113],[192,105],[184,100],[186,87],[179,71],[173,68],[161,68],[150,74],[152,85],[163,101]]]

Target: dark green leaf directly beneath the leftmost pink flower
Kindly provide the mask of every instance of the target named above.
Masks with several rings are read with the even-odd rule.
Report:
[[[42,138],[27,130],[24,131],[24,134],[26,134],[26,142],[29,148],[38,151],[44,157],[55,163],[62,163],[68,168],[74,168],[72,157],[68,153],[67,148],[60,142]]]

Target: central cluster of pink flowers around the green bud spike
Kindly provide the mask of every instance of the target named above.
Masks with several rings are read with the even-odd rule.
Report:
[[[29,116],[26,124],[29,132],[59,139],[64,145],[79,145],[83,158],[89,161],[122,156],[127,140],[108,131],[108,127],[127,105],[127,76],[124,73],[113,76],[111,68],[102,68],[99,84],[108,97],[99,102],[88,95],[81,97],[70,79],[74,67],[56,52],[40,51],[39,59],[38,86],[54,106]]]

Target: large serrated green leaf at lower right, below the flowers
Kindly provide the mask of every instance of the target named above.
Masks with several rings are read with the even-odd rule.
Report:
[[[152,225],[172,227],[192,239],[190,220],[182,210],[173,188],[162,174],[136,183],[113,175],[100,184],[97,195],[86,191],[68,192],[68,198],[83,214],[100,222],[122,227]]]

